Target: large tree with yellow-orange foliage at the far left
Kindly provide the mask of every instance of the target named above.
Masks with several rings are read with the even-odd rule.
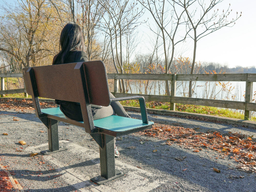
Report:
[[[28,0],[16,7],[2,8],[6,15],[0,31],[3,39],[0,50],[12,55],[23,67],[37,65],[49,55],[49,50],[42,46],[46,34],[40,29],[44,3],[45,0]]]

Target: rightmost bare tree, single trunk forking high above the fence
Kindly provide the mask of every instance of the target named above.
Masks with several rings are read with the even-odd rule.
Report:
[[[193,61],[191,66],[190,74],[194,73],[194,66],[196,61],[196,45],[197,41],[214,31],[221,29],[222,27],[228,26],[232,27],[236,20],[241,17],[241,14],[236,15],[235,19],[228,19],[232,9],[230,10],[230,4],[227,10],[221,12],[219,9],[214,10],[217,4],[221,3],[223,0],[211,0],[207,3],[204,0],[174,0],[178,5],[180,5],[186,12],[187,15],[187,31],[189,37],[194,40],[194,51],[193,51]],[[194,4],[197,7],[195,10],[188,10],[190,5]],[[190,34],[189,31],[192,33]],[[189,95],[192,97],[192,81],[189,82]]]

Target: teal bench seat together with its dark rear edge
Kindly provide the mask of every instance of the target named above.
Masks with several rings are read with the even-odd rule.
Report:
[[[61,118],[62,120],[60,121],[63,122],[65,122],[65,119],[67,119],[59,107],[41,109],[41,112],[52,119],[60,120]],[[78,123],[83,124],[83,121],[79,121]],[[152,121],[149,121],[148,124],[145,124],[142,122],[142,120],[139,119],[131,119],[117,115],[111,115],[102,119],[93,120],[93,123],[95,127],[100,128],[99,132],[113,136],[134,133],[137,132],[137,128],[141,129],[144,126],[147,127],[148,125],[154,124]]]

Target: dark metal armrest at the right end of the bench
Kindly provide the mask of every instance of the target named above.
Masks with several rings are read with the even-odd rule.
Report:
[[[138,99],[139,102],[140,102],[142,122],[145,123],[145,124],[148,124],[146,102],[145,102],[144,97],[142,97],[142,96],[131,96],[131,97],[111,98],[111,102],[134,100],[134,99]]]

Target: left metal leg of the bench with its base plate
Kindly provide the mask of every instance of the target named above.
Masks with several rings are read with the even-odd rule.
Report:
[[[59,133],[58,133],[58,121],[55,119],[48,119],[48,145],[49,150],[41,151],[42,154],[46,155],[49,153],[56,153],[59,151],[66,150],[65,147],[59,147]]]

